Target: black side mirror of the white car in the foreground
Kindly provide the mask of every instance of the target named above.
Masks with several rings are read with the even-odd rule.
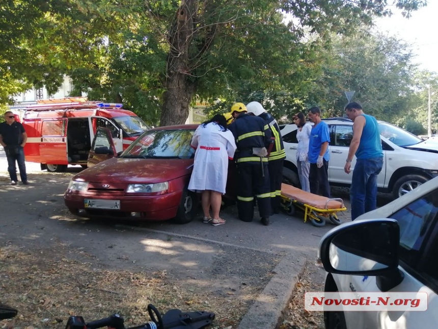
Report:
[[[398,270],[399,239],[394,219],[356,220],[327,232],[319,244],[319,257],[327,272],[375,275],[377,286],[387,291],[403,280]]]

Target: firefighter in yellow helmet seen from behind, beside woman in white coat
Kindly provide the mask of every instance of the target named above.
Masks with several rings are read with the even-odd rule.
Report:
[[[231,107],[233,124],[228,128],[236,139],[234,159],[238,169],[237,210],[242,221],[254,218],[254,196],[257,198],[260,219],[269,225],[270,184],[268,159],[266,158],[271,131],[262,118],[251,116],[242,103]],[[264,154],[264,156],[263,156]]]

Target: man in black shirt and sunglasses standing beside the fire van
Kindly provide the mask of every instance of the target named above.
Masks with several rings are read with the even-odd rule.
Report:
[[[11,178],[11,185],[17,185],[17,168],[15,161],[18,163],[21,182],[28,185],[28,176],[26,175],[26,166],[24,164],[23,147],[28,140],[24,127],[21,123],[15,121],[14,113],[8,111],[5,113],[5,122],[0,123],[0,144],[5,148],[6,158],[8,159],[8,171]]]

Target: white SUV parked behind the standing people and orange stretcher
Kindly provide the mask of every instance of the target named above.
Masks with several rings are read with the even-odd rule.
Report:
[[[331,185],[351,184],[352,174],[344,172],[348,147],[353,137],[353,122],[347,118],[323,119],[330,128],[329,182]],[[379,191],[392,193],[397,198],[428,180],[438,176],[438,143],[428,143],[407,131],[385,121],[379,121],[384,150],[384,166],[377,178]],[[297,126],[282,126],[286,150],[283,177],[286,183],[299,187],[296,170]],[[355,158],[351,163],[354,169]]]

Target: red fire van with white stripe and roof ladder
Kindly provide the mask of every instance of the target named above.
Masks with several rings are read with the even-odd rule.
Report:
[[[122,104],[87,97],[38,100],[24,108],[21,122],[28,134],[26,161],[41,163],[41,169],[52,172],[64,171],[69,164],[87,166],[98,127],[111,131],[118,153],[150,128]]]

